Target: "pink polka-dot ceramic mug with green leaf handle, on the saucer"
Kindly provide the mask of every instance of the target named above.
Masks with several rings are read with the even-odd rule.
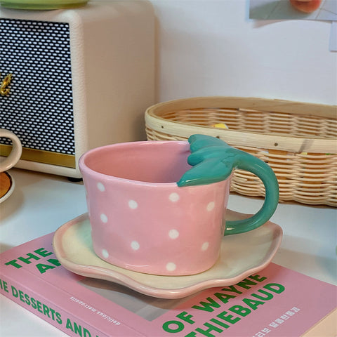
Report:
[[[86,152],[86,187],[95,253],[112,265],[153,275],[193,275],[218,259],[223,234],[263,225],[279,190],[272,169],[222,140],[117,143]],[[223,222],[233,168],[256,173],[265,202],[254,216]]]

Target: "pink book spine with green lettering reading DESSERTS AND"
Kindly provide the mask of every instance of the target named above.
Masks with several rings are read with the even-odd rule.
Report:
[[[4,275],[0,275],[0,293],[69,336],[111,337],[101,333],[94,326],[88,326],[79,317],[39,296],[36,291],[27,288],[24,284]]]

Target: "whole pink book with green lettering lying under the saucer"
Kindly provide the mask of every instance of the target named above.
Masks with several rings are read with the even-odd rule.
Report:
[[[232,286],[174,300],[75,275],[53,233],[0,255],[0,291],[69,336],[302,336],[336,308],[336,286],[271,263]]]

